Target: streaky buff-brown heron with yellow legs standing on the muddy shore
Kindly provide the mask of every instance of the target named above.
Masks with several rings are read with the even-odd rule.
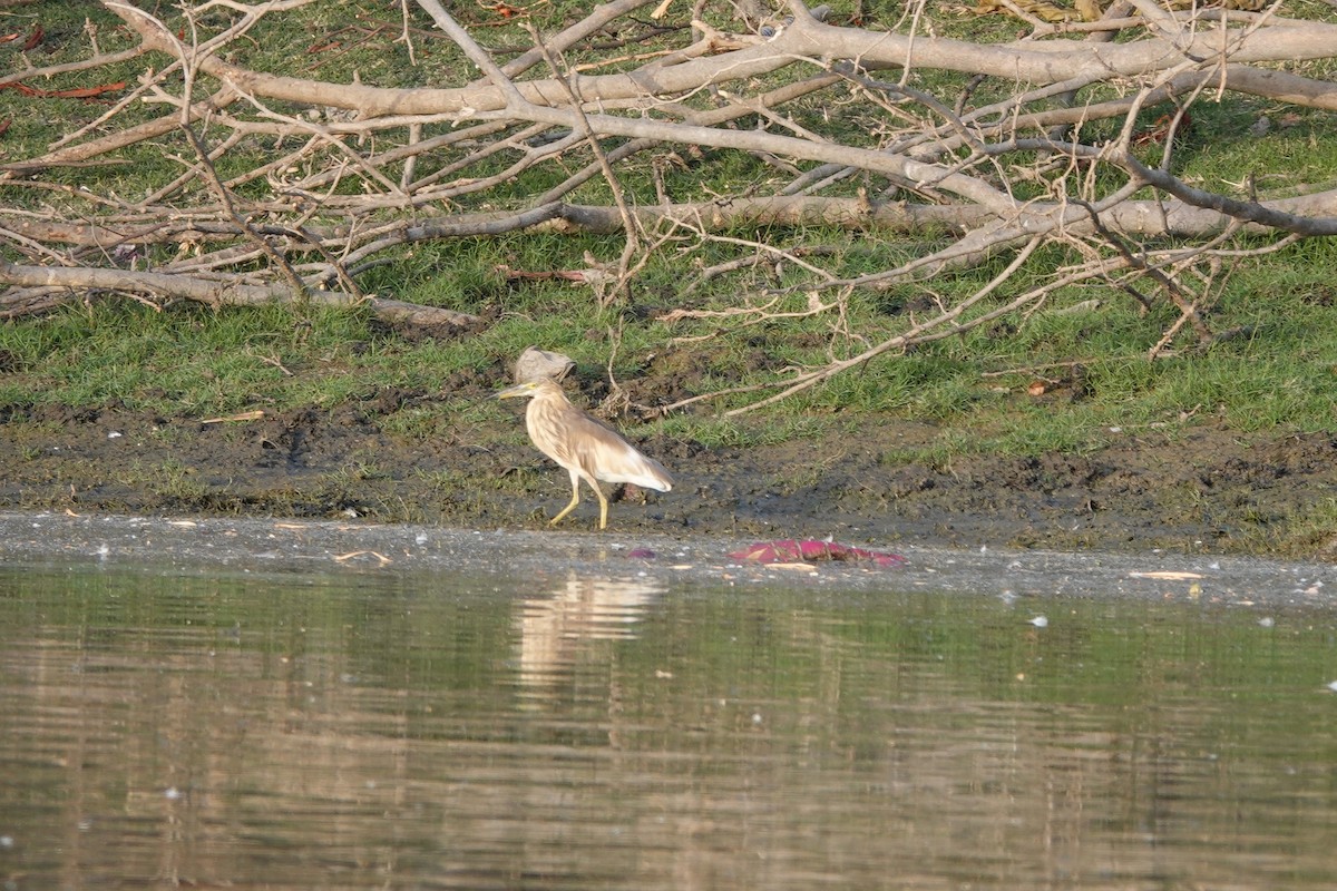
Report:
[[[580,481],[599,497],[599,528],[608,526],[608,500],[599,489],[604,482],[631,482],[644,489],[668,492],[673,477],[664,466],[636,450],[612,427],[571,405],[562,386],[550,378],[516,383],[496,394],[497,399],[527,397],[524,421],[529,439],[571,474],[571,504],[548,525],[556,525],[580,504]]]

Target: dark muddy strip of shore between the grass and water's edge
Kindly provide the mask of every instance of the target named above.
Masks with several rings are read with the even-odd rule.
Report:
[[[489,390],[453,381],[453,390]],[[386,433],[435,394],[381,390],[334,409],[203,423],[120,406],[0,411],[0,508],[75,513],[362,517],[461,528],[544,526],[566,474],[515,418],[432,438]],[[775,446],[642,442],[671,493],[616,493],[623,532],[834,536],[977,548],[1175,550],[1332,558],[1337,437],[1242,437],[1202,422],[1178,437],[1115,435],[1090,454],[906,461],[939,430],[872,421],[857,433]],[[566,521],[592,529],[590,500]]]

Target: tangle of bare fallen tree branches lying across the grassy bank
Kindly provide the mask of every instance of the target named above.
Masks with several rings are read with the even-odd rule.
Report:
[[[821,21],[797,0],[787,24],[785,13],[761,27],[729,4],[698,3],[647,28],[635,12],[650,1],[594,7],[547,25],[545,37],[511,27],[497,41],[519,41],[509,61],[439,0],[418,0],[421,12],[405,3],[402,23],[346,25],[356,48],[408,53],[416,65],[428,53],[410,37],[428,45],[425,12],[436,67],[364,83],[310,75],[345,67],[353,52],[299,76],[253,61],[249,41],[285,16],[320,9],[337,25],[333,0],[163,7],[160,16],[104,0],[99,15],[138,45],[103,53],[90,37],[86,61],[25,75],[84,76],[139,59],[144,68],[111,107],[0,166],[0,282],[9,286],[0,313],[98,290],[213,306],[365,306],[396,325],[475,326],[475,315],[364,298],[376,290],[372,270],[406,264],[433,242],[586,235],[598,244],[590,258],[559,266],[582,266],[599,301],[634,302],[627,286],[652,260],[706,266],[673,289],[670,299],[691,305],[660,299],[642,313],[695,326],[679,333],[693,342],[825,319],[830,362],[747,390],[774,390],[761,406],[1009,313],[1024,322],[1079,282],[1162,307],[1155,355],[1171,342],[1206,343],[1215,333],[1205,307],[1230,251],[1262,256],[1337,234],[1332,183],[1253,194],[1195,180],[1179,163],[1190,112],[1203,103],[1265,96],[1306,114],[1337,108],[1325,73],[1337,59],[1329,20],[1130,0],[1136,16],[1114,7],[1090,27],[1036,20],[1028,37],[989,44],[929,33],[923,5],[889,29]],[[619,49],[627,35],[635,53]],[[452,68],[443,55],[467,63]],[[102,83],[120,80],[131,83]],[[404,85],[418,81],[427,85]],[[1165,123],[1151,124],[1169,102]],[[1213,150],[1194,139],[1189,131],[1193,151]],[[151,182],[126,166],[146,155],[171,159]],[[726,164],[743,171],[737,182],[714,175]],[[842,240],[838,230],[868,238]],[[901,239],[894,250],[892,238]],[[1001,278],[985,289],[953,283],[984,262]],[[1031,285],[1015,285],[1021,278]],[[916,310],[876,331],[849,322],[856,295],[894,303],[928,287],[931,315]],[[673,405],[699,398],[713,397]]]

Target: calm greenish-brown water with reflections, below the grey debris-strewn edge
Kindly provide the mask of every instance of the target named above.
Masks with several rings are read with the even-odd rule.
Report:
[[[0,569],[0,884],[1330,888],[1334,679],[1187,593]]]

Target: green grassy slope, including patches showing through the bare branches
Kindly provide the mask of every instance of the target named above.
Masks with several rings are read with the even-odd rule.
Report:
[[[376,15],[384,12],[376,4],[361,5]],[[870,9],[873,5],[865,4]],[[55,1],[36,4],[33,20],[47,28],[52,59],[60,52],[78,55],[83,12],[75,15]],[[348,24],[353,12],[345,9],[337,20],[322,20],[313,28]],[[999,27],[996,21],[989,25]],[[246,61],[263,65],[273,59],[305,59],[310,33],[290,33],[286,41],[257,41],[255,57]],[[492,43],[505,43],[504,32],[492,33]],[[102,41],[104,48],[114,48],[116,37],[104,32]],[[431,81],[445,76],[443,72],[453,64],[440,41],[424,40],[428,61],[418,69],[386,63],[385,47],[385,41],[374,43],[374,52],[356,57],[365,80]],[[310,73],[337,76],[318,65]],[[134,76],[134,69],[126,75]],[[62,85],[87,84],[71,80],[51,87]],[[15,155],[51,140],[47,122],[88,120],[103,111],[74,100],[23,98],[13,91],[0,94],[0,104],[4,106],[0,115],[15,122],[5,135]],[[1273,119],[1273,130],[1262,138],[1250,135],[1249,127],[1265,114]],[[159,176],[175,164],[138,150],[130,158]],[[648,159],[634,160],[627,170],[628,182],[643,184],[647,170]],[[750,158],[713,154],[670,179],[674,194],[682,198],[701,194],[698,178],[706,171],[715,176],[706,186],[718,191],[774,175]],[[1329,114],[1293,112],[1237,96],[1221,106],[1203,104],[1195,110],[1194,130],[1181,151],[1177,172],[1190,182],[1221,188],[1229,188],[1222,183],[1251,175],[1269,194],[1330,183],[1337,178],[1337,120]],[[59,176],[94,190],[142,188],[127,170],[64,171]],[[544,184],[517,183],[515,190],[523,194]],[[37,200],[21,190],[5,191],[9,200]],[[489,195],[493,200],[501,198]],[[592,183],[575,198],[602,202],[604,187]],[[841,273],[882,269],[894,258],[919,250],[916,244],[848,232],[797,231],[781,238],[785,243],[836,246],[840,252],[834,267]],[[682,252],[659,252],[638,279],[632,299],[606,309],[598,307],[583,289],[563,282],[507,283],[495,271],[499,263],[524,270],[578,269],[586,264],[586,251],[612,259],[620,246],[616,238],[525,234],[418,246],[404,251],[394,266],[369,274],[364,282],[368,291],[485,313],[495,319],[481,334],[456,342],[408,339],[358,311],[316,307],[213,311],[191,305],[156,311],[96,295],[86,305],[45,318],[0,326],[4,369],[0,406],[118,403],[193,418],[251,409],[328,407],[378,387],[436,390],[455,375],[468,379],[495,375],[500,381],[505,363],[531,343],[568,353],[578,361],[579,374],[595,381],[606,374],[612,330],[620,331],[614,375],[628,386],[639,382],[635,395],[643,402],[667,401],[754,382],[787,365],[822,363],[829,351],[852,351],[865,339],[876,342],[893,333],[902,314],[924,298],[917,287],[876,297],[856,295],[849,318],[836,333],[828,318],[721,330],[714,322],[667,326],[655,317],[685,305],[679,294],[691,270],[739,254],[727,244],[691,244]],[[1066,260],[1071,258],[1054,258],[1055,264]],[[991,274],[992,270],[980,270],[929,287],[951,295],[977,286]],[[1062,302],[1036,313],[910,355],[884,358],[746,421],[723,421],[713,414],[717,407],[739,405],[746,398],[731,397],[656,423],[666,435],[718,448],[838,435],[849,425],[858,425],[860,418],[877,423],[927,419],[939,425],[940,435],[923,453],[906,460],[936,462],[949,462],[953,454],[964,453],[1083,453],[1099,449],[1111,427],[1154,429],[1174,437],[1177,430],[1205,418],[1241,434],[1328,430],[1334,423],[1337,403],[1333,282],[1337,282],[1337,246],[1325,240],[1243,260],[1223,277],[1209,317],[1214,330],[1241,334],[1202,354],[1185,351],[1155,362],[1147,361],[1146,351],[1174,321],[1171,309],[1147,314],[1116,291],[1075,289],[1062,295]],[[735,306],[741,291],[765,285],[759,273],[754,278],[721,279],[695,291],[690,306]],[[1100,302],[1095,310],[1058,311],[1092,299]],[[805,301],[794,297],[777,309],[801,310]],[[1027,385],[1035,381],[1071,383],[1072,363],[1080,363],[1082,398],[1040,402],[1025,395]],[[425,441],[483,419],[509,417],[501,409],[480,403],[477,395],[476,389],[453,394],[447,386],[440,402],[394,414],[386,430]]]

